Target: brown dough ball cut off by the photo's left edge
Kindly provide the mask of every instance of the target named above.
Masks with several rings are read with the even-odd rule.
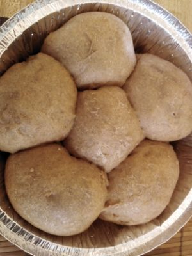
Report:
[[[74,124],[76,85],[54,58],[37,54],[0,78],[0,149],[63,140]]]

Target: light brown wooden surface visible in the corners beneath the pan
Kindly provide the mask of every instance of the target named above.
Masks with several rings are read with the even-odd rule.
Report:
[[[32,2],[32,0],[0,0],[0,16],[11,17],[15,12]],[[156,0],[155,2],[172,12],[192,31],[192,0]],[[0,256],[25,255],[27,254],[0,236]],[[192,219],[170,241],[147,253],[147,255],[192,256]]]

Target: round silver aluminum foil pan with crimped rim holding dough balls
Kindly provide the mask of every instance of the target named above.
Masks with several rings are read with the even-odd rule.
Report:
[[[45,36],[70,17],[89,11],[120,17],[131,29],[136,52],[172,61],[192,79],[192,36],[179,20],[148,0],[38,0],[0,28],[1,73],[38,52]],[[32,255],[142,255],[170,239],[192,216],[192,136],[177,141],[175,149],[180,161],[179,182],[159,218],[136,227],[97,220],[83,234],[71,237],[45,234],[22,220],[6,197],[1,168],[0,232]]]

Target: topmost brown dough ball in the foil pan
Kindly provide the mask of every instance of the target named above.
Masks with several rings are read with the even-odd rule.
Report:
[[[78,88],[123,86],[136,65],[132,36],[115,15],[76,15],[45,39],[42,52],[68,68]]]

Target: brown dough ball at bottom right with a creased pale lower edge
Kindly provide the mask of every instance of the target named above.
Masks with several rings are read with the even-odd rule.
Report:
[[[168,143],[144,140],[108,175],[108,201],[102,220],[139,225],[153,220],[170,202],[179,161]]]

